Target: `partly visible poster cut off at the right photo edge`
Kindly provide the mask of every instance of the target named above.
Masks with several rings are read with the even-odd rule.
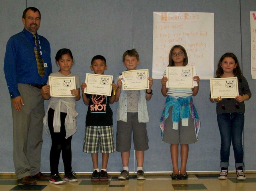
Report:
[[[251,74],[256,79],[256,12],[250,12],[251,23]]]

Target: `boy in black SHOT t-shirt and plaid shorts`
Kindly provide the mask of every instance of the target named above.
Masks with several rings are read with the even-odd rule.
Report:
[[[104,75],[107,69],[106,59],[102,55],[96,55],[92,58],[91,70],[95,74]],[[111,83],[108,79],[101,78],[102,83]],[[115,91],[117,86],[112,83],[112,95],[94,95],[85,94],[86,83],[82,83],[82,98],[85,105],[88,105],[86,115],[86,128],[83,152],[90,153],[94,171],[91,181],[108,181],[107,173],[108,157],[110,153],[115,152],[114,134],[113,134],[113,112],[110,104],[115,102]],[[102,169],[98,168],[98,150],[102,153]]]

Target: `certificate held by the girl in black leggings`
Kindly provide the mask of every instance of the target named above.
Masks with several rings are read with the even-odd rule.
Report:
[[[75,77],[49,76],[50,95],[52,97],[75,97],[70,90],[76,89]]]

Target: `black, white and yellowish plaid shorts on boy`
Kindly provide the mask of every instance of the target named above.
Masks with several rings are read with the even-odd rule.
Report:
[[[98,153],[115,152],[113,126],[87,126],[83,152]]]

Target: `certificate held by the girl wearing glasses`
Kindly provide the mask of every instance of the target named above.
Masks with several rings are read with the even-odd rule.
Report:
[[[193,67],[166,67],[166,77],[168,77],[166,87],[192,88],[195,86],[193,81],[194,74]]]

